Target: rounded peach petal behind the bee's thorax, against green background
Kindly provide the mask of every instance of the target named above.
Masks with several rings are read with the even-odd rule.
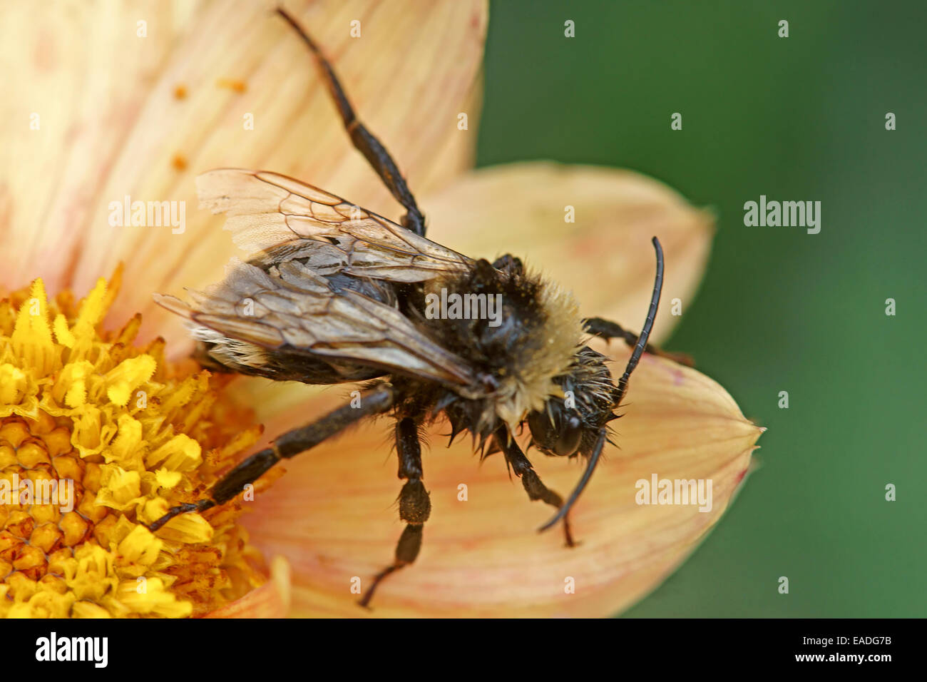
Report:
[[[714,232],[708,212],[632,171],[511,163],[465,174],[423,200],[428,237],[490,260],[512,253],[572,289],[583,315],[638,330],[654,288],[654,248],[666,254],[663,302],[654,341],[666,339],[705,271]],[[572,206],[575,223],[565,222]]]

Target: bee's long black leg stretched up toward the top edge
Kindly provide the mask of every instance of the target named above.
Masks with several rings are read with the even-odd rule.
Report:
[[[354,108],[351,107],[350,100],[345,94],[344,88],[338,82],[335,70],[328,62],[328,59],[324,58],[322,51],[319,49],[319,46],[315,44],[315,41],[312,40],[309,33],[303,31],[298,21],[286,12],[286,9],[283,7],[277,7],[277,14],[286,19],[286,23],[298,32],[299,37],[302,38],[302,42],[309,47],[312,55],[319,63],[319,71],[322,71],[322,77],[325,84],[328,86],[328,91],[331,93],[332,99],[335,100],[338,113],[341,114],[341,120],[344,122],[345,130],[348,131],[348,135],[350,136],[351,142],[354,143],[354,147],[364,155],[367,162],[370,163],[371,168],[380,176],[383,184],[387,186],[387,189],[392,193],[393,197],[405,208],[406,214],[402,218],[402,225],[412,230],[416,235],[424,237],[425,215],[422,214],[418,205],[415,203],[415,198],[409,186],[406,185],[405,180],[402,178],[396,161],[393,161],[393,158],[389,156],[389,152],[387,148],[383,146],[383,143],[380,142],[373,133],[367,130],[362,122],[358,121],[357,114],[354,113]]]

